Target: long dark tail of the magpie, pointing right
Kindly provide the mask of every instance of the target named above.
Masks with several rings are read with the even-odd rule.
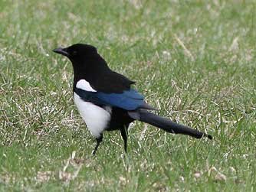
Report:
[[[170,132],[174,134],[189,135],[194,138],[208,137],[209,139],[212,139],[212,135],[208,135],[204,132],[199,132],[196,129],[192,129],[184,125],[179,125],[176,122],[172,122],[169,119],[163,118],[161,116],[157,116],[156,114],[152,112],[148,112],[146,110],[140,109],[136,112],[129,112],[129,115],[133,119],[139,120],[141,122],[149,123],[150,125],[156,126],[159,129],[163,129],[166,132]]]

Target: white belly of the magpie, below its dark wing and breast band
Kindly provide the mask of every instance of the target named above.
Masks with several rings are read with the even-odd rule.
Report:
[[[84,102],[77,93],[74,93],[74,103],[91,134],[98,138],[110,121],[110,110],[102,109],[93,103]]]

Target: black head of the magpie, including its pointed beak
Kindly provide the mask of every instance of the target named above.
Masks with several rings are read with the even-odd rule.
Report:
[[[73,44],[70,47],[59,47],[53,51],[68,57],[72,62],[97,54],[97,49],[90,44]]]

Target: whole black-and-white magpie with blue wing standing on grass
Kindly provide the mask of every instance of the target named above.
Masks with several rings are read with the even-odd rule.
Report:
[[[155,110],[132,85],[135,83],[120,73],[114,72],[107,62],[90,44],[73,44],[53,50],[64,55],[73,65],[74,103],[90,133],[96,138],[95,155],[103,131],[120,130],[127,151],[128,129],[131,122],[139,120],[173,134],[189,135],[194,138],[212,135],[179,125],[151,112]]]

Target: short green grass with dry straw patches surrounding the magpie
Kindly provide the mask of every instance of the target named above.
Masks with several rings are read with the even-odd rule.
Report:
[[[0,191],[255,191],[255,1],[0,1]],[[214,140],[136,122],[94,138],[71,63],[93,44],[158,107]],[[73,156],[72,156],[73,154]]]

